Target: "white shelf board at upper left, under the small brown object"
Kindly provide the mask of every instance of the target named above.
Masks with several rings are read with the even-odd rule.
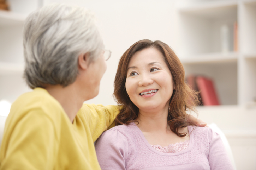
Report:
[[[11,11],[0,10],[0,27],[23,25],[26,16]]]

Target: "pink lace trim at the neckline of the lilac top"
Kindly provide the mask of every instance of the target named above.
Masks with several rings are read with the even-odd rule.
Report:
[[[175,153],[183,151],[189,147],[189,140],[184,142],[177,142],[175,144],[169,144],[168,146],[162,147],[161,145],[151,145],[155,150],[163,153]]]

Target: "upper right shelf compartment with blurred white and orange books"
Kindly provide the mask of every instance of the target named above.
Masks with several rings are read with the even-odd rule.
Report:
[[[197,8],[201,10],[195,10]],[[178,34],[180,35],[178,53],[181,56],[220,53],[222,51],[221,27],[223,26],[228,29],[227,51],[234,51],[234,24],[238,18],[237,1],[230,1],[229,4],[224,1],[210,9],[207,6],[195,9],[190,7],[178,10]]]

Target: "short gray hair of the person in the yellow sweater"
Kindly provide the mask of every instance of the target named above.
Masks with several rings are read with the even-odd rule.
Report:
[[[78,56],[93,62],[104,49],[94,16],[85,8],[52,4],[25,20],[24,78],[31,89],[44,84],[68,86],[78,74]],[[89,62],[89,63],[90,63]]]

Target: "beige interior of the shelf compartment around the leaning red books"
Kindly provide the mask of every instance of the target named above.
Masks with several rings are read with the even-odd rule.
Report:
[[[237,62],[183,64],[186,76],[201,75],[213,80],[221,105],[237,105]]]

